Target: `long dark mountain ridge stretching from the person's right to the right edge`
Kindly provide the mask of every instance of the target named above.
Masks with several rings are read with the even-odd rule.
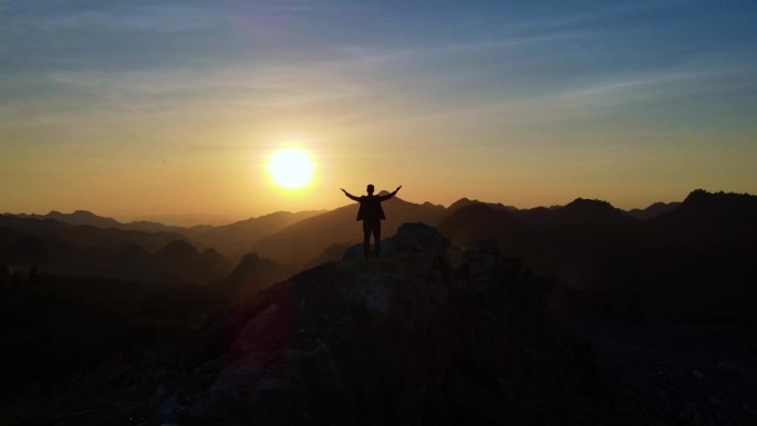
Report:
[[[457,243],[495,239],[578,289],[636,303],[650,318],[757,324],[757,197],[692,193],[646,220],[604,201],[496,211],[463,207],[440,225]]]

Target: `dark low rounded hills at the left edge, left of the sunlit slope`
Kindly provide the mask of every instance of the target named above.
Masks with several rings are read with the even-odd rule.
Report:
[[[204,283],[231,266],[214,249],[200,253],[180,235],[71,226],[52,219],[0,217],[0,263],[13,270],[100,276],[144,282]]]

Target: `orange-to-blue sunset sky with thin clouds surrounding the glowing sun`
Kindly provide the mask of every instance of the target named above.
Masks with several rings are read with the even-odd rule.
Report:
[[[0,0],[0,212],[757,194],[757,1]],[[314,180],[267,174],[304,149]]]

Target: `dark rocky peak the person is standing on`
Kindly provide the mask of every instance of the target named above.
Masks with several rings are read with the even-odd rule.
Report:
[[[207,330],[153,395],[151,423],[628,420],[553,313],[550,280],[494,242],[449,247],[423,224],[383,246],[383,258],[356,247],[277,283]]]

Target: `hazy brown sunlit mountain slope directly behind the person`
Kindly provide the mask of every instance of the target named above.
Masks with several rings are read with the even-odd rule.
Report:
[[[442,206],[417,205],[398,197],[393,197],[382,205],[386,212],[386,220],[382,222],[383,235],[394,233],[400,224],[405,221],[435,225],[446,215],[446,209]],[[304,219],[261,238],[255,243],[251,252],[281,263],[298,267],[309,264],[321,257],[330,246],[363,240],[362,222],[355,220],[357,208],[357,204],[352,204]]]

